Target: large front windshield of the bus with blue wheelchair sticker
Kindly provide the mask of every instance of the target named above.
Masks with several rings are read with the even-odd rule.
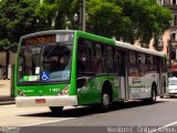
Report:
[[[58,82],[70,80],[72,42],[22,45],[18,81]]]

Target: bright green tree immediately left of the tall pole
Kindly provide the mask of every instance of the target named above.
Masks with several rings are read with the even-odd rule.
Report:
[[[72,22],[73,0],[43,0],[37,7],[37,16],[49,29],[65,29],[66,21]],[[71,25],[69,25],[71,27]]]

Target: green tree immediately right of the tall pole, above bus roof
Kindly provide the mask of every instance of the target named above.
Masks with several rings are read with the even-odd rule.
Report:
[[[121,38],[126,27],[131,25],[129,18],[123,13],[123,8],[105,0],[87,2],[88,24],[93,25],[94,33],[104,37]]]

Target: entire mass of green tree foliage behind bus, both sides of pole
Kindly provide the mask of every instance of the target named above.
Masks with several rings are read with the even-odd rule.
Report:
[[[17,45],[21,35],[50,29],[73,29],[80,0],[0,1],[0,47]],[[169,28],[173,13],[156,0],[86,0],[87,31],[148,44]],[[8,41],[7,41],[8,40]]]

